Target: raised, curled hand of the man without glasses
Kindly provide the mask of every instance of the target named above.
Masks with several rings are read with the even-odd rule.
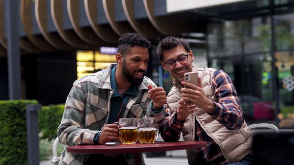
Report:
[[[166,92],[162,87],[155,87],[151,84],[148,85],[149,98],[153,100],[153,107],[156,110],[160,110],[162,106],[167,102]]]

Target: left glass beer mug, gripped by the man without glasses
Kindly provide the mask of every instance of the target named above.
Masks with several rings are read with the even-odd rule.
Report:
[[[122,144],[136,144],[138,140],[137,118],[119,119],[119,136]]]

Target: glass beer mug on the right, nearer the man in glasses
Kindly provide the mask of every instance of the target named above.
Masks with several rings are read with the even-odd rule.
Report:
[[[138,139],[141,144],[153,144],[158,136],[158,125],[155,118],[138,119]]]

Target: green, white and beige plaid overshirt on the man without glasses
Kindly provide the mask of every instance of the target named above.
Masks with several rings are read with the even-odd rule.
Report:
[[[111,64],[104,71],[93,73],[76,80],[66,100],[58,137],[61,144],[94,145],[95,134],[101,132],[110,114],[110,100],[114,90],[111,89],[110,73],[116,64]],[[123,82],[122,82],[123,83]],[[164,110],[153,113],[151,99],[148,98],[148,84],[156,87],[149,78],[144,77],[138,86],[137,96],[130,96],[124,109],[123,118],[155,117],[159,126],[164,118]],[[130,165],[134,164],[134,155],[124,154]],[[61,153],[60,165],[84,165],[88,154]],[[142,165],[144,159],[141,154]],[[99,163],[99,161],[98,161]]]

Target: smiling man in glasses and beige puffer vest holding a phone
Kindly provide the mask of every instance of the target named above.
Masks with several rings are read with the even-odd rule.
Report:
[[[186,150],[189,165],[252,165],[252,132],[229,76],[223,70],[194,67],[189,43],[182,38],[163,39],[157,54],[174,78],[164,105],[162,138],[178,141],[182,132],[184,140],[206,141],[207,147]],[[199,86],[183,81],[187,72],[198,72]]]

